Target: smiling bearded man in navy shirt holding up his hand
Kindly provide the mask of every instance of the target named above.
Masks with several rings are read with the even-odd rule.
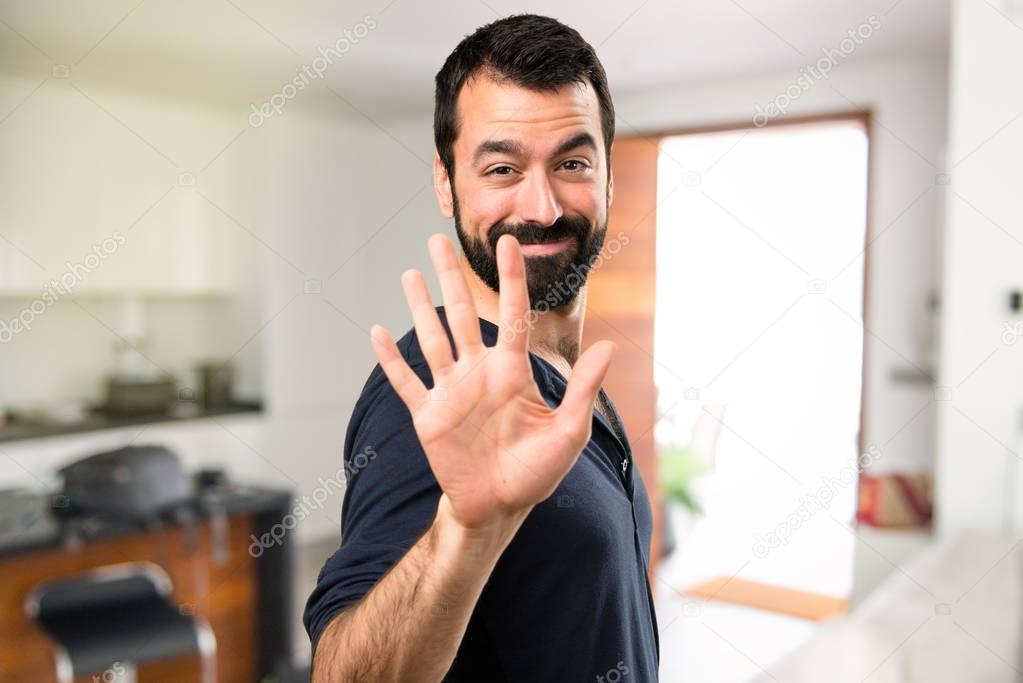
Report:
[[[406,271],[414,331],[370,332],[341,547],[304,617],[313,680],[657,680],[650,503],[601,390],[615,346],[579,355],[614,186],[604,69],[574,30],[510,16],[455,48],[436,98],[462,254],[431,237],[444,306]]]

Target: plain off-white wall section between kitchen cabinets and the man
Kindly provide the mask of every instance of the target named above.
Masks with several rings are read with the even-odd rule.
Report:
[[[260,134],[274,189],[258,202],[244,193],[225,200],[261,221],[268,241],[302,270],[271,259],[264,314],[272,322],[262,334],[270,402],[263,452],[303,495],[322,493],[321,480],[342,466],[348,419],[375,363],[369,327],[382,323],[396,337],[410,327],[400,275],[411,267],[432,273],[426,239],[450,229],[417,158],[431,158],[431,138],[414,125],[388,127],[413,155],[375,126],[335,113],[267,123]],[[340,510],[339,492],[301,534],[337,538]]]

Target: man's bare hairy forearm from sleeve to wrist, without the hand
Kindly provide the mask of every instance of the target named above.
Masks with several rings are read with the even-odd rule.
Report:
[[[441,680],[487,579],[527,513],[465,530],[442,496],[427,533],[323,630],[313,683]]]

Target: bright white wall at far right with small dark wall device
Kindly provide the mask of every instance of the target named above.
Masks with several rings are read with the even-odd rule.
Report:
[[[1018,3],[1017,3],[1018,4]],[[938,401],[937,522],[944,533],[1023,526],[1014,476],[1023,429],[1023,15],[1000,2],[952,3],[951,182],[946,196]],[[1014,24],[1015,21],[1015,24]],[[1008,326],[1008,330],[1007,330]]]

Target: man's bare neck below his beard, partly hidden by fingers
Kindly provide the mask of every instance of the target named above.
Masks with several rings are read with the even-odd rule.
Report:
[[[500,308],[497,292],[488,287],[473,271],[464,255],[458,263],[476,302],[476,311],[484,320],[500,326]],[[567,370],[575,365],[582,342],[582,324],[586,313],[586,286],[568,306],[542,313],[534,312],[535,319],[529,330],[529,350],[554,367]]]

